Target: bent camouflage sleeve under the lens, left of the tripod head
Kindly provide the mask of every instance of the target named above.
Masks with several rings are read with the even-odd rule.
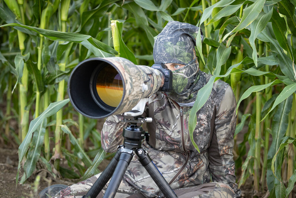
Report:
[[[146,105],[142,116],[147,115],[147,110],[148,105]],[[122,114],[111,115],[106,119],[101,132],[101,144],[105,152],[114,153],[117,151],[117,146],[123,143],[122,132],[128,123],[122,121]]]

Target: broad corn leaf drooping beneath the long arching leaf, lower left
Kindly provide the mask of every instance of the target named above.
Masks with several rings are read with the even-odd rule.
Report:
[[[33,134],[32,146],[28,151],[27,159],[24,165],[26,180],[32,175],[36,168],[36,163],[40,157],[41,147],[44,142],[45,127],[46,119],[41,122],[40,126]]]

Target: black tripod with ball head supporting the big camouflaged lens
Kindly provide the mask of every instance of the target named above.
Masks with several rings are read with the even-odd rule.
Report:
[[[118,146],[118,151],[110,161],[106,169],[102,172],[94,185],[89,189],[88,193],[83,198],[95,198],[99,192],[103,189],[106,183],[110,180],[110,183],[105,191],[104,198],[115,197],[116,191],[120,185],[126,169],[131,162],[134,154],[139,158],[139,161],[147,170],[151,178],[163,192],[165,197],[174,198],[177,195],[171,189],[163,175],[159,172],[147,151],[141,148],[142,140],[146,137],[148,141],[149,134],[145,133],[141,126],[137,126],[136,123],[151,122],[151,118],[134,117],[132,115],[124,116],[125,122],[130,122],[131,125],[123,129],[123,145]]]

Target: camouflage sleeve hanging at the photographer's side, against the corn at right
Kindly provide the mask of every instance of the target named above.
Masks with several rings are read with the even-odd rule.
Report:
[[[240,197],[233,160],[233,135],[236,126],[236,101],[230,86],[226,88],[215,117],[215,130],[210,145],[209,163],[214,182],[228,184]]]

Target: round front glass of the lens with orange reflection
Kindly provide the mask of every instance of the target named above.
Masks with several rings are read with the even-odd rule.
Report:
[[[111,107],[117,107],[123,96],[123,82],[114,67],[105,66],[96,80],[96,91],[101,100]]]

